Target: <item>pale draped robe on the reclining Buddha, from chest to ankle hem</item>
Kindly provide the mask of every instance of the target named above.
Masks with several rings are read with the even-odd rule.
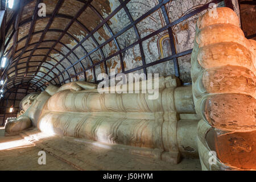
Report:
[[[97,89],[57,92],[42,108],[37,127],[48,134],[151,148],[161,151],[162,159],[177,163],[179,145],[184,142],[177,143],[178,113],[195,113],[195,110],[191,86],[176,88],[176,81],[171,81],[160,86],[156,100],[149,100],[152,94],[142,92],[98,93]],[[196,133],[195,126],[196,123],[191,126],[192,133]]]

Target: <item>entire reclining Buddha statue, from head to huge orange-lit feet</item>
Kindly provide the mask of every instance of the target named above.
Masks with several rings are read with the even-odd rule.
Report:
[[[84,81],[49,85],[20,102],[22,115],[9,119],[6,132],[34,126],[144,148],[142,155],[171,163],[199,156],[205,170],[256,169],[256,42],[245,38],[234,11],[220,7],[214,13],[196,24],[192,86],[160,77],[159,97],[150,100],[144,92],[99,93]],[[142,90],[145,81],[139,84]]]

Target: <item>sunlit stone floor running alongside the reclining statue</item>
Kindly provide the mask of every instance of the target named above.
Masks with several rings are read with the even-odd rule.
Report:
[[[0,170],[201,170],[199,159],[170,164],[84,139],[48,136],[35,129],[3,136],[0,128]],[[46,151],[46,165],[38,164],[42,150]]]

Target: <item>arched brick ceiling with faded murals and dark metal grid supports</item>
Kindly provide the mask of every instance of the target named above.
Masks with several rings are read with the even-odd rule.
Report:
[[[191,82],[196,19],[220,0],[19,0],[7,10],[6,88],[97,82],[99,73],[160,73]],[[39,17],[38,4],[46,4]]]

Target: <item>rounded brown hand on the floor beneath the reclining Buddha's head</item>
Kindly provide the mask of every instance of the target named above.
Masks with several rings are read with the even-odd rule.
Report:
[[[10,118],[7,120],[5,125],[5,131],[7,133],[14,133],[18,131],[22,131],[31,126],[31,120],[28,117],[18,117],[18,118]]]

